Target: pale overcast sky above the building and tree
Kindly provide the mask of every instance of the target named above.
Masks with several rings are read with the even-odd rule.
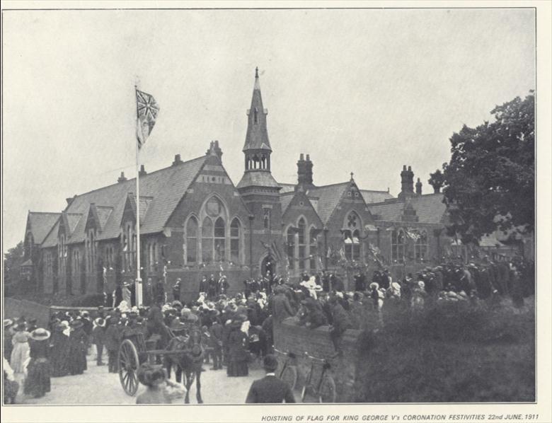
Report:
[[[218,139],[237,185],[255,66],[268,108],[272,174],[314,183],[355,173],[363,189],[424,184],[462,124],[534,82],[534,11],[4,11],[4,251],[28,210],[134,177],[134,82],[161,107],[146,170]]]

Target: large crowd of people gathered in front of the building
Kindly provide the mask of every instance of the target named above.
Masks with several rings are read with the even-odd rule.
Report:
[[[35,320],[25,318],[4,320],[5,393],[11,392],[9,386],[17,392],[13,375],[20,374],[26,394],[45,395],[50,377],[86,371],[86,356],[93,349],[96,365],[107,364],[106,371],[117,373],[117,351],[129,328],[142,332],[145,340],[154,339],[159,348],[166,347],[175,334],[200,330],[204,366],[212,364],[212,371],[226,368],[229,377],[247,376],[252,361],[263,362],[272,354],[273,328],[286,318],[309,329],[328,325],[335,357],[339,357],[343,333],[349,328],[384,325],[382,312],[390,304],[416,311],[428,302],[466,301],[485,306],[510,297],[514,307],[522,308],[524,296],[534,289],[534,266],[523,260],[494,263],[485,259],[478,264],[425,267],[402,279],[393,279],[386,269],[373,272],[371,279],[357,272],[351,291],[345,291],[336,274],[304,274],[291,282],[268,272],[245,281],[243,291],[234,295],[228,294],[224,275],[217,279],[212,275],[202,278],[197,299],[188,302],[180,301],[180,285],[177,280],[171,301],[164,289],[154,286],[146,292],[149,306],[132,305],[132,299],[122,295],[117,296],[114,308],[100,306],[91,313],[59,311],[52,314],[47,328],[37,328]]]

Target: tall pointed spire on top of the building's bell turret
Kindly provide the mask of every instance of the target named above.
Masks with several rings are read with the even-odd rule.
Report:
[[[251,108],[247,111],[247,115],[246,144],[243,146],[243,152],[250,150],[272,151],[266,125],[268,110],[263,108],[263,97],[260,95],[259,68],[255,68],[253,98],[251,98]]]

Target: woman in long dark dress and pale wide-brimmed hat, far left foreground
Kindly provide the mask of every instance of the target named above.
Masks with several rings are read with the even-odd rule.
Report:
[[[50,392],[50,331],[37,328],[30,332],[30,362],[25,380],[25,395],[41,398]]]

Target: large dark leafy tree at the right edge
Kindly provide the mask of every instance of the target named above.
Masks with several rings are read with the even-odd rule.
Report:
[[[534,94],[491,111],[495,122],[464,125],[450,139],[452,156],[444,163],[444,202],[449,235],[478,241],[500,229],[534,230]]]

